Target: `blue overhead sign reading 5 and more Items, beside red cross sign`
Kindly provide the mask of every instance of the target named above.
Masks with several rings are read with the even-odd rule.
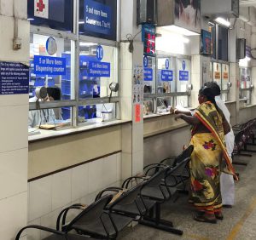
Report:
[[[112,34],[112,9],[93,0],[84,1],[84,30]]]

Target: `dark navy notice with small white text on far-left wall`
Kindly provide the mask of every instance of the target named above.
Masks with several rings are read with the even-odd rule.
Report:
[[[0,94],[28,94],[28,84],[28,66],[15,62],[0,62]]]

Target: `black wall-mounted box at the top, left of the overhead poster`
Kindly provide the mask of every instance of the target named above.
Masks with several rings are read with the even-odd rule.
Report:
[[[137,25],[156,24],[156,2],[157,0],[137,0]]]

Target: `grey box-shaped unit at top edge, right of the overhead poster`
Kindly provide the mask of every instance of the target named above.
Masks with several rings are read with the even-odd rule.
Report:
[[[201,0],[201,13],[209,18],[222,16],[239,17],[239,0]]]

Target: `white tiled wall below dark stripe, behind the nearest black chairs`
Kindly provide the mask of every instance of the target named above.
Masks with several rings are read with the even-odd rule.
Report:
[[[118,186],[120,180],[120,153],[34,180],[28,184],[29,224],[55,227],[61,209],[73,203],[90,204],[98,191],[107,186]],[[74,215],[73,211],[70,218]],[[28,240],[46,236],[43,231],[28,231]]]

